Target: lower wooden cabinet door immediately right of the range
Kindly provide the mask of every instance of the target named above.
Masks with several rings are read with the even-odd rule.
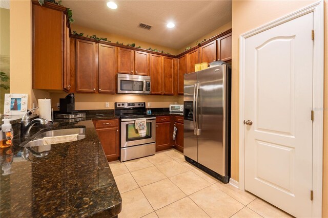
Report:
[[[170,122],[156,123],[156,151],[171,148]]]

